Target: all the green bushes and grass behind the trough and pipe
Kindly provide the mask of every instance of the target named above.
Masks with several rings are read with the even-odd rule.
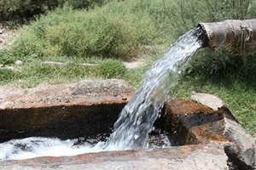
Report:
[[[0,70],[1,85],[33,87],[41,82],[123,78],[137,86],[147,66],[126,69],[122,59],[143,56],[151,62],[152,56],[160,57],[163,49],[200,22],[256,18],[256,2],[0,0],[4,19],[31,17],[37,14],[33,11],[46,14],[38,15],[20,29],[9,51],[0,51],[1,65],[14,65],[17,59],[24,63],[15,65],[14,71]],[[187,99],[192,91],[216,94],[247,130],[256,134],[255,55],[255,45],[247,46],[246,52],[238,48],[202,49],[184,69],[172,94]],[[70,64],[48,66],[43,61]],[[79,63],[99,66],[86,68]]]

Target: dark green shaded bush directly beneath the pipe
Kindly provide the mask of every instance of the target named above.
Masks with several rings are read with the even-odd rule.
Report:
[[[247,46],[247,52],[242,52],[239,48],[201,50],[190,60],[185,74],[216,78],[232,75],[245,82],[255,82],[255,50],[255,45]]]

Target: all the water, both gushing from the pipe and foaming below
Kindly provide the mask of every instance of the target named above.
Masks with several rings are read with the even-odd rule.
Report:
[[[201,48],[201,31],[194,29],[175,42],[166,54],[144,74],[143,82],[119,115],[108,141],[75,144],[75,140],[48,138],[14,139],[0,144],[0,160],[27,159],[38,156],[74,156],[102,150],[146,149],[148,133],[154,129],[170,89],[177,83],[180,65]],[[161,142],[169,145],[165,136]],[[164,145],[165,146],[165,145]]]

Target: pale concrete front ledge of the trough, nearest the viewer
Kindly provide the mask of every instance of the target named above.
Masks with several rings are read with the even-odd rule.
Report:
[[[41,157],[2,161],[7,169],[113,169],[113,170],[228,170],[227,156],[220,144],[200,144],[154,150],[120,150],[79,156]]]

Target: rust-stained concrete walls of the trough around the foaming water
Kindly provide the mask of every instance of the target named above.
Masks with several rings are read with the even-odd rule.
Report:
[[[125,82],[108,80],[29,89],[0,88],[0,92],[0,140],[6,141],[30,136],[61,139],[93,138],[102,133],[108,136],[134,90]],[[233,145],[238,152],[234,159],[238,158],[236,162],[242,165],[239,150],[243,149],[236,150],[236,143],[243,141],[238,138],[242,135],[235,135],[239,139],[236,141],[234,135],[225,133],[229,127],[227,119],[238,122],[224,105],[214,108],[183,99],[166,102],[154,126],[166,132],[176,147],[2,161],[0,166],[1,169],[228,169],[224,147]]]

